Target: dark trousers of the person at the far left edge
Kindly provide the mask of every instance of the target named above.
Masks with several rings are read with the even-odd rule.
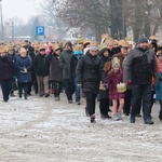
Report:
[[[3,100],[8,102],[12,89],[12,79],[1,80],[0,83],[1,83],[2,94],[3,94]]]

